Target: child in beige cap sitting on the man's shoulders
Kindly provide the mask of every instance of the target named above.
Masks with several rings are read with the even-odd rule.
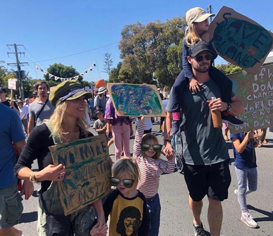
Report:
[[[187,78],[189,83],[189,89],[194,92],[198,93],[201,91],[201,84],[195,79],[191,64],[188,62],[187,57],[189,56],[189,48],[192,44],[196,44],[197,42],[203,40],[206,43],[209,44],[209,49],[212,53],[208,53],[207,55],[203,56],[197,56],[195,57],[195,60],[197,62],[210,61],[213,62],[213,60],[216,59],[217,53],[214,50],[213,46],[210,44],[209,41],[209,33],[208,27],[208,17],[215,16],[214,14],[206,13],[204,9],[201,7],[194,7],[191,8],[186,12],[186,22],[188,25],[186,36],[183,41],[183,58],[182,58],[182,64],[183,64],[183,70],[185,73],[185,76],[182,78],[182,76],[178,76],[177,79],[180,79],[180,82],[184,81],[184,78]],[[222,95],[222,101],[225,102],[231,102],[232,98],[232,81],[223,74],[220,70],[216,69],[215,67],[210,67],[209,69],[209,75],[211,79],[219,86],[221,90]],[[187,80],[185,83],[182,83],[185,88],[187,87]],[[210,99],[210,98],[209,98]],[[176,102],[176,101],[174,101]],[[178,102],[178,101],[177,101]],[[180,113],[179,109],[175,112],[172,112],[172,130],[171,135],[175,135],[179,130],[180,125]],[[223,122],[228,122],[232,125],[241,125],[243,124],[242,121],[236,119],[234,116],[231,116],[228,112],[231,111],[231,107],[228,105],[228,109],[226,112],[222,112],[222,120]]]

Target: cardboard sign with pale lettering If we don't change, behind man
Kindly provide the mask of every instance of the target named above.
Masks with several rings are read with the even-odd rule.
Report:
[[[231,134],[273,126],[273,65],[261,67],[255,75],[242,71],[228,77],[245,109],[238,116],[244,124],[229,125]]]

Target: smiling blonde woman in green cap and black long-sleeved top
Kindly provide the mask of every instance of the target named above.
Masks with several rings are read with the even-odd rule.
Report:
[[[66,174],[65,167],[53,165],[49,146],[68,140],[77,140],[93,136],[86,129],[86,102],[92,94],[84,91],[77,80],[67,80],[59,84],[50,93],[49,100],[56,107],[49,120],[32,131],[27,145],[15,167],[15,174],[21,179],[30,179],[41,183],[39,190],[38,232],[39,236],[89,236],[89,230],[98,215],[98,235],[106,235],[102,201],[65,216],[60,201],[57,182]],[[39,171],[32,171],[31,166],[37,159]]]

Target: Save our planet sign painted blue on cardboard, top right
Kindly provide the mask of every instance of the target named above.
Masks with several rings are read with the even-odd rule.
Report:
[[[251,74],[262,67],[273,48],[273,34],[255,21],[223,6],[209,26],[218,55]]]

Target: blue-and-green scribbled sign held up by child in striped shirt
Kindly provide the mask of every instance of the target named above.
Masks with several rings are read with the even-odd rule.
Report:
[[[118,116],[166,116],[155,85],[108,83]]]

